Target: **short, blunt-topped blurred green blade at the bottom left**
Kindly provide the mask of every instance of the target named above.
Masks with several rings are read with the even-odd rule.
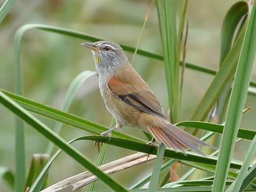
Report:
[[[33,183],[35,182],[37,176],[42,171],[43,167],[49,161],[50,156],[48,154],[34,154],[32,157],[32,161],[30,163],[30,168],[28,171],[28,177],[25,185],[25,191],[30,189]],[[45,179],[47,178],[47,174],[45,174]],[[46,187],[47,182],[44,180],[41,187]]]

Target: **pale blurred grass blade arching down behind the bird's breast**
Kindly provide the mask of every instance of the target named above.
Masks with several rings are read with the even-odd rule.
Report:
[[[74,80],[71,82],[71,84],[68,87],[68,92],[66,94],[65,101],[63,102],[62,105],[62,110],[63,111],[68,111],[69,107],[71,105],[71,102],[74,100],[75,95],[79,88],[82,86],[83,82],[86,81],[87,78],[96,75],[97,73],[94,71],[83,71],[79,75],[77,75]],[[54,132],[59,134],[60,130],[62,127],[62,123],[58,122],[55,127],[54,127]],[[46,154],[51,154],[53,150],[53,143],[49,142],[47,149],[46,149]]]

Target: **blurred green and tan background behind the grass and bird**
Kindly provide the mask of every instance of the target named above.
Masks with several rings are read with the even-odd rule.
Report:
[[[0,5],[3,4],[0,0]],[[23,0],[17,1],[0,26],[0,87],[14,90],[14,59],[13,37],[15,31],[26,23],[41,23],[82,31],[87,34],[100,36],[114,42],[135,46],[138,41],[145,15],[151,1],[141,0]],[[220,54],[221,23],[229,7],[236,1],[189,1],[187,18],[189,33],[187,57],[189,62],[218,69]],[[24,73],[26,97],[60,108],[67,88],[76,75],[83,70],[94,70],[91,52],[80,44],[83,41],[67,36],[51,34],[33,29],[22,39],[22,66]],[[161,53],[157,12],[150,13],[139,47],[156,53]],[[127,53],[129,59],[132,54]],[[134,68],[151,86],[158,99],[167,111],[167,92],[163,62],[137,56]],[[201,100],[212,76],[186,69],[183,86],[182,111],[180,120],[188,120]],[[253,71],[256,79],[256,71]],[[246,107],[252,110],[243,117],[242,127],[255,129],[256,98],[249,95]],[[70,113],[90,121],[108,126],[111,115],[103,105],[99,90],[98,79],[92,77],[79,90],[75,101],[70,107]],[[8,166],[15,170],[14,162],[14,116],[0,107],[0,166]],[[55,122],[42,119],[53,127]],[[124,133],[145,138],[141,131],[132,127],[124,127]],[[61,136],[70,140],[88,134],[74,127],[63,126]],[[243,159],[249,142],[242,141],[236,146],[235,158]],[[31,156],[44,153],[47,141],[41,134],[26,126],[26,155],[27,167]],[[89,141],[74,144],[87,157],[96,161],[97,148]],[[132,151],[110,147],[106,162],[132,154]],[[153,168],[153,163],[115,173],[113,177],[125,186],[131,186],[139,178]],[[52,164],[50,183],[55,183],[71,175],[84,171],[66,154],[61,154]],[[97,185],[99,189],[103,185]],[[9,191],[0,181],[1,191]]]

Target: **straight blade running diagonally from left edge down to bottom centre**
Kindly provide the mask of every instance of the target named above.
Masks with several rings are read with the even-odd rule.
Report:
[[[27,122],[29,125],[34,127],[39,133],[43,134],[44,137],[54,142],[55,145],[64,150],[69,156],[74,158],[79,164],[83,165],[87,170],[95,174],[100,180],[106,183],[110,188],[115,191],[127,191],[125,187],[111,179],[107,174],[103,173],[95,166],[89,159],[87,159],[83,154],[81,154],[74,147],[70,146],[65,140],[63,140],[59,135],[54,133],[49,127],[44,125],[42,122],[38,121],[33,115],[29,114],[28,111],[23,109],[17,103],[15,103],[11,98],[7,97],[2,91],[0,91],[0,102],[7,109],[11,110],[14,114],[19,116],[23,121]]]

